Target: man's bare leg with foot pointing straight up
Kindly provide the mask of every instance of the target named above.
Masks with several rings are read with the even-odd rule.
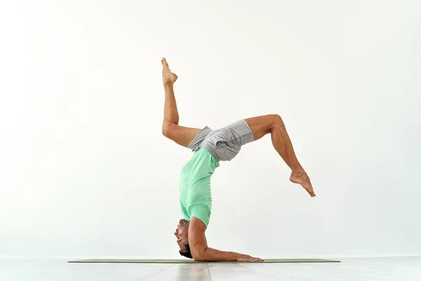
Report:
[[[187,146],[197,136],[200,129],[187,128],[178,125],[178,110],[175,102],[173,84],[178,79],[177,75],[171,72],[165,58],[162,63],[163,89],[165,89],[165,104],[163,107],[162,133],[167,138],[175,141],[179,145]]]

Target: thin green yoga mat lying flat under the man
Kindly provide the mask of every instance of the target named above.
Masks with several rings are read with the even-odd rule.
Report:
[[[69,263],[207,263],[192,259],[83,259]],[[339,263],[330,259],[265,259],[255,263]],[[250,263],[250,261],[212,261],[211,263]]]

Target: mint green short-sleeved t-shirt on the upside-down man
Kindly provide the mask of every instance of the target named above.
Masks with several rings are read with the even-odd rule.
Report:
[[[219,166],[218,161],[204,148],[197,150],[185,164],[180,174],[180,205],[182,216],[190,221],[192,216],[208,226],[212,196],[210,176]]]

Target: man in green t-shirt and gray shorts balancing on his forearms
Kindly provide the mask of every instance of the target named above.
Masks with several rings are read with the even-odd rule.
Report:
[[[182,168],[180,174],[180,205],[184,219],[175,230],[180,254],[194,261],[263,261],[252,256],[208,247],[205,231],[209,223],[212,198],[210,176],[220,161],[229,161],[241,149],[241,145],[257,141],[267,133],[271,134],[276,152],[292,170],[290,181],[299,183],[314,194],[304,169],[295,157],[285,125],[279,115],[265,115],[239,120],[224,128],[212,130],[187,128],[178,125],[178,110],[175,103],[173,84],[178,79],[168,67],[166,59],[161,60],[165,105],[162,133],[179,145],[194,151],[192,159]]]

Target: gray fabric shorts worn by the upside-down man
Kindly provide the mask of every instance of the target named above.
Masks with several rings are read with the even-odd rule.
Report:
[[[188,148],[193,151],[205,148],[216,161],[229,161],[236,157],[241,146],[254,141],[253,131],[244,120],[239,120],[221,129],[208,126],[199,131]]]

